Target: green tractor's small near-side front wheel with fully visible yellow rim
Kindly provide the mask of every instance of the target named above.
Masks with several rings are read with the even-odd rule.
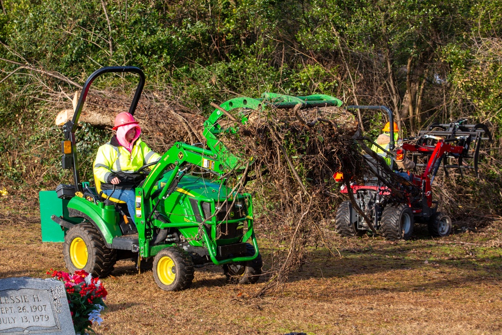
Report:
[[[181,248],[166,248],[154,257],[154,280],[164,291],[189,288],[192,285],[193,273],[192,258]]]

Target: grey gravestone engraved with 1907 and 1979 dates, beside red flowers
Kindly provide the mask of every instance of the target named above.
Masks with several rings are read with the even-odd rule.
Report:
[[[64,283],[0,279],[0,334],[75,335]]]

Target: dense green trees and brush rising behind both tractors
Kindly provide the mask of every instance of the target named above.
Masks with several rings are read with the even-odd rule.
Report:
[[[348,104],[390,106],[405,135],[433,120],[489,123],[500,147],[497,0],[0,4],[0,188],[37,190],[61,180],[61,133],[50,106],[107,65],[141,67],[147,90],[202,113],[210,101],[236,95],[325,93]],[[369,113],[358,117],[366,127],[380,122]],[[109,135],[83,127],[79,136],[90,157]],[[485,161],[485,186],[501,183],[499,162],[495,150]],[[488,194],[495,210],[496,187]]]

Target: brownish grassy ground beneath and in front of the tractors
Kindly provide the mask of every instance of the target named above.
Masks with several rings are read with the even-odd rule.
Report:
[[[258,225],[260,229],[260,225]],[[312,250],[303,271],[280,290],[245,303],[265,283],[227,285],[216,266],[198,269],[182,292],[157,288],[152,272],[117,263],[98,334],[500,334],[502,225],[432,240],[418,226],[411,241],[342,239],[341,258]],[[263,232],[259,242],[271,246]],[[270,268],[271,247],[262,249]],[[61,245],[42,243],[38,208],[0,198],[0,278],[47,278],[64,270]]]

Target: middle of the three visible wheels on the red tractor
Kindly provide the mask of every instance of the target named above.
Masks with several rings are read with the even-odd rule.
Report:
[[[382,233],[387,240],[408,240],[413,234],[413,212],[404,203],[389,204],[381,219]]]

